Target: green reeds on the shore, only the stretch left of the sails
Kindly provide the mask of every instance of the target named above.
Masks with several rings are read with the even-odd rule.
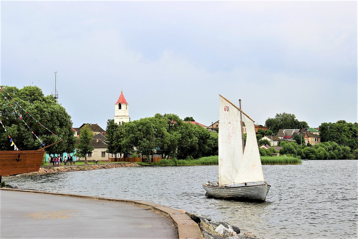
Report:
[[[218,165],[218,156],[201,157],[194,160],[162,159],[151,165],[158,166],[194,166],[194,165]]]

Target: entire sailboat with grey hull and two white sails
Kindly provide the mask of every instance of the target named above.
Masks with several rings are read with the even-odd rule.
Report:
[[[243,139],[246,127],[246,145]],[[219,94],[219,181],[203,184],[220,199],[265,201],[271,185],[265,182],[254,121]]]

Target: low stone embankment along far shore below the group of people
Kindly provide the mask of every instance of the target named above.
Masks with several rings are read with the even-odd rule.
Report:
[[[37,172],[30,172],[23,175],[34,174],[54,174],[58,172],[73,172],[73,171],[88,171],[96,169],[113,169],[118,167],[140,167],[139,164],[134,163],[117,163],[117,164],[90,164],[90,165],[71,165],[71,166],[59,166],[59,167],[41,167]]]

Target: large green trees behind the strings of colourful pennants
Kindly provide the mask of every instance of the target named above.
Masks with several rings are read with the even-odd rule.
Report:
[[[13,138],[20,150],[38,150],[44,147],[42,143],[47,146],[59,141],[59,138],[50,132],[52,131],[63,141],[47,148],[47,153],[73,152],[76,137],[73,136],[71,116],[56,99],[50,95],[44,96],[42,90],[36,86],[26,86],[22,89],[12,86],[2,87],[11,97],[1,90],[0,119],[7,132],[0,127],[0,150],[14,150],[10,147],[8,135]],[[5,97],[8,98],[11,106]],[[35,135],[42,140],[42,143]]]

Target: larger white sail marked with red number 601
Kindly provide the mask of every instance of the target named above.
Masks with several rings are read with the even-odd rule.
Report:
[[[235,182],[242,156],[240,111],[219,96],[219,187]]]

